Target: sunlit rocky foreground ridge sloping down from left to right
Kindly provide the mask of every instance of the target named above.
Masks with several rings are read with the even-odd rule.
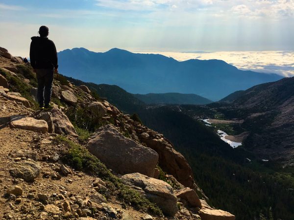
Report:
[[[62,85],[55,80],[52,96],[57,105],[48,111],[33,110],[33,78],[21,73],[22,67],[16,65],[20,60],[4,56],[8,51],[2,47],[0,51],[0,218],[234,219],[198,198],[205,195],[196,186],[186,159],[168,139],[95,98],[86,86]],[[31,87],[32,99],[11,94],[18,92],[11,79]],[[76,115],[79,109],[86,110],[91,122],[102,125],[85,140],[70,121],[71,110]],[[70,142],[58,142],[59,135]],[[73,163],[63,158],[65,152],[73,151],[66,143],[89,149],[112,175],[121,177],[125,187],[155,203],[166,217],[138,211],[114,196],[107,180],[74,169]]]

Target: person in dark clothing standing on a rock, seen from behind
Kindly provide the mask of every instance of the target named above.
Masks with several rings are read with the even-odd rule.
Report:
[[[58,72],[57,52],[53,41],[49,40],[49,28],[41,26],[40,37],[31,37],[30,63],[38,79],[37,98],[41,109],[51,109],[52,82],[54,72]],[[44,106],[45,104],[45,106]]]

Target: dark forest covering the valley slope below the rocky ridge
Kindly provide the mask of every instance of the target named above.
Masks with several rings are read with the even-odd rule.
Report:
[[[172,107],[139,113],[149,128],[163,133],[184,154],[210,205],[238,220],[294,219],[293,170],[255,161],[244,147],[232,149],[210,127]],[[256,129],[266,123],[260,120]]]

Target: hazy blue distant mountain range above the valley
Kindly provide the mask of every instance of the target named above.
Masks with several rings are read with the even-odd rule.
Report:
[[[159,54],[139,54],[113,48],[96,53],[85,48],[58,53],[59,71],[84,82],[117,85],[130,93],[178,92],[213,101],[236,90],[282,78],[239,70],[221,60],[179,62]]]

